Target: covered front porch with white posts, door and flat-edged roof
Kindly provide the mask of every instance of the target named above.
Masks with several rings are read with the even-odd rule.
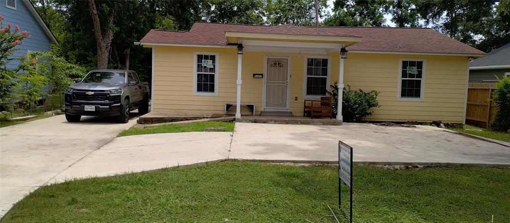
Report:
[[[343,91],[345,47],[359,42],[358,37],[236,32],[227,32],[225,36],[229,45],[237,46],[236,101],[231,103],[234,108],[231,113],[225,109],[225,114],[235,114],[239,122],[342,124],[341,104],[336,120],[328,118],[328,121],[303,117],[303,108],[307,107],[307,101],[327,96],[329,86],[335,81],[339,83],[336,90]],[[339,97],[341,101],[342,94]],[[248,104],[251,116],[243,112],[243,105]]]

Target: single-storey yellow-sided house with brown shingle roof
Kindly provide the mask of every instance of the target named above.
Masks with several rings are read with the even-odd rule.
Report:
[[[464,123],[469,60],[485,54],[424,28],[197,22],[140,43],[152,48],[151,110],[236,118],[303,116],[338,81],[380,92],[371,121]]]

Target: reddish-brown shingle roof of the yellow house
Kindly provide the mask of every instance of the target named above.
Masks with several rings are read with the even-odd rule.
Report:
[[[362,37],[353,51],[484,54],[429,28],[242,25],[196,22],[189,32],[151,30],[142,43],[226,45],[225,32]]]

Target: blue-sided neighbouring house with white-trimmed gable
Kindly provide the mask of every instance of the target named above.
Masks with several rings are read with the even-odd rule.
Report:
[[[52,43],[59,44],[30,0],[0,0],[0,15],[4,17],[2,26],[8,23],[19,25],[21,31],[30,34],[18,45],[19,50],[13,55],[15,59],[27,55],[30,51],[48,51]],[[16,68],[18,64],[18,60],[12,60],[7,67]]]

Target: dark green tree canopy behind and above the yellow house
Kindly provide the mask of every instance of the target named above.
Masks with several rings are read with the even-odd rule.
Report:
[[[315,0],[31,1],[61,43],[56,47],[60,57],[92,69],[106,55],[108,68],[136,70],[144,79],[150,73],[150,49],[133,43],[150,29],[188,31],[196,21],[315,25],[316,5]],[[318,16],[320,25],[328,26],[428,26],[487,52],[510,40],[508,2],[336,0],[328,6],[326,0],[318,0]],[[96,7],[99,26],[90,3]],[[98,40],[107,40],[109,32],[110,45],[97,50]]]

